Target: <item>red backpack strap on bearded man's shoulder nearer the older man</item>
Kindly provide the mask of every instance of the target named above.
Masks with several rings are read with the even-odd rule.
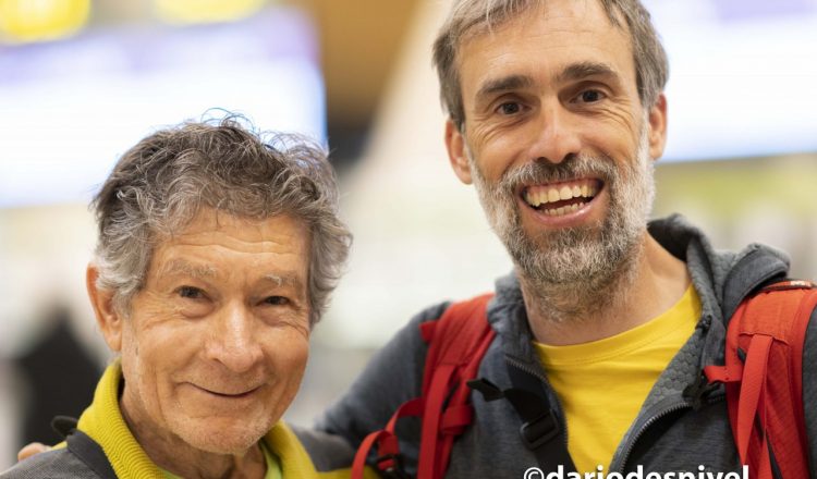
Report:
[[[401,417],[423,420],[417,479],[437,479],[448,467],[454,438],[474,417],[466,382],[476,377],[479,363],[495,331],[488,324],[486,309],[492,294],[454,303],[436,320],[420,324],[420,334],[429,344],[423,373],[423,395],[398,408],[386,428],[364,439],[355,455],[352,478],[363,478],[366,458],[377,444],[377,467],[387,477],[407,477],[400,464],[394,434]]]

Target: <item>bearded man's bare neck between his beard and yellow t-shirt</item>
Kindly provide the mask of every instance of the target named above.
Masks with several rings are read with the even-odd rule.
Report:
[[[520,278],[537,342],[582,344],[641,326],[672,307],[690,284],[686,266],[648,233],[607,279],[583,284],[534,284]]]

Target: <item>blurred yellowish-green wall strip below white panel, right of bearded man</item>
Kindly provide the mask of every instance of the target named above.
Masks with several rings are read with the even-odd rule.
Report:
[[[792,277],[817,279],[817,155],[659,162],[656,181],[656,214],[685,214],[719,248],[783,249]]]

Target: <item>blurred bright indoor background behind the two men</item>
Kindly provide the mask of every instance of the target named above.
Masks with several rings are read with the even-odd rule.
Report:
[[[670,54],[656,216],[817,277],[817,0],[645,1]],[[441,0],[0,0],[0,470],[56,442],[110,359],[84,290],[86,205],[125,149],[209,109],[328,144],[355,244],[288,413],[308,425],[371,352],[510,271],[449,171],[430,65]]]

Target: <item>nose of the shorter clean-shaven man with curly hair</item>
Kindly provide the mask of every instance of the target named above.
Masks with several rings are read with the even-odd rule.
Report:
[[[207,356],[234,372],[252,369],[263,354],[248,308],[244,305],[228,307],[214,322]]]

